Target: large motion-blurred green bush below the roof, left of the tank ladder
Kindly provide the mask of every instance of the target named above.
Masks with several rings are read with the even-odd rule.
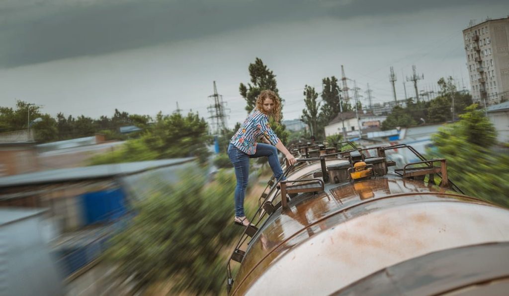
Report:
[[[235,184],[221,170],[212,183],[187,171],[179,183],[158,186],[104,254],[118,267],[115,276],[139,291],[169,282],[172,293],[225,293],[227,248],[241,229],[233,225]]]

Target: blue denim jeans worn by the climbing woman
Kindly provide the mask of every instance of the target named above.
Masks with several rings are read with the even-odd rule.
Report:
[[[240,151],[237,147],[230,144],[228,146],[228,156],[235,168],[235,177],[237,177],[237,186],[235,187],[235,216],[244,217],[244,196],[246,194],[247,179],[249,178],[249,158],[258,158],[267,156],[269,158],[269,165],[276,176],[276,180],[282,177],[285,180],[283,171],[277,159],[276,147],[269,144],[257,143],[256,153],[253,155],[246,154]]]

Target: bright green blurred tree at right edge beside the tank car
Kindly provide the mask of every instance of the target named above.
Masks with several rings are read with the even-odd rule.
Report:
[[[431,157],[447,159],[449,178],[467,195],[509,207],[509,156],[495,153],[496,131],[476,105],[432,140]]]

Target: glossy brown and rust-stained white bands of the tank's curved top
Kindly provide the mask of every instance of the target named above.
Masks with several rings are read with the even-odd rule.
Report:
[[[295,174],[308,177],[314,166]],[[509,241],[501,229],[509,229],[506,210],[421,181],[389,174],[326,184],[270,216],[250,242],[232,291],[327,294],[428,252]]]

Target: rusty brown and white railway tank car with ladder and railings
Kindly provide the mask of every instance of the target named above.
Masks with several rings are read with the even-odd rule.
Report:
[[[287,180],[269,181],[228,261],[229,294],[508,290],[507,209],[465,195],[447,178],[445,159],[407,145],[338,144],[292,150],[298,162],[285,168]],[[393,149],[421,161],[392,169],[385,152]]]

